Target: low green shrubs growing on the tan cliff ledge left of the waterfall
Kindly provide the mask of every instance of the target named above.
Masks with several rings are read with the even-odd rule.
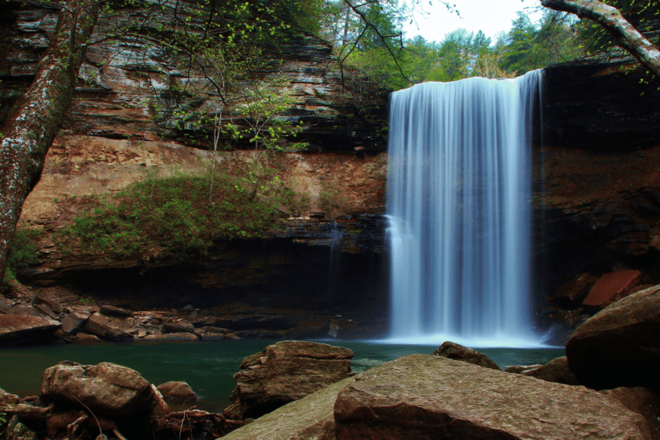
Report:
[[[142,256],[150,246],[174,253],[206,253],[214,240],[263,236],[291,203],[278,179],[179,174],[148,179],[108,196],[84,196],[74,203],[86,214],[59,233],[69,251],[98,252],[110,258]],[[259,184],[257,186],[257,184]]]

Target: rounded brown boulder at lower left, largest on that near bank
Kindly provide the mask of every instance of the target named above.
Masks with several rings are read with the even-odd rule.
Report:
[[[108,416],[151,412],[155,404],[148,381],[135,370],[109,362],[51,366],[41,378],[41,399],[76,407],[80,401],[94,414]]]

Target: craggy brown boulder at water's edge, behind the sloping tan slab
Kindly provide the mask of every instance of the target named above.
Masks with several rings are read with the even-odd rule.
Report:
[[[259,417],[346,379],[353,351],[307,341],[281,341],[247,356],[234,374],[227,419]]]

